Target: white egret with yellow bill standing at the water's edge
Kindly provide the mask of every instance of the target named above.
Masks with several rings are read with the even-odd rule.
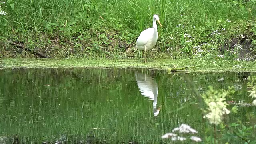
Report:
[[[136,46],[138,50],[145,50],[145,63],[146,63],[146,52],[147,50],[152,49],[157,42],[158,38],[158,33],[157,33],[157,25],[156,25],[156,20],[162,26],[162,24],[159,21],[158,15],[153,16],[153,27],[148,28],[144,30],[143,32],[140,33],[140,36],[137,39]]]

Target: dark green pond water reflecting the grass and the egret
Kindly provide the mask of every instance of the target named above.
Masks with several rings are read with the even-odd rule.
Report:
[[[198,97],[207,86],[235,86],[236,102],[251,103],[250,73],[170,74],[145,69],[0,70],[0,143],[161,143],[182,123],[204,136]],[[230,121],[245,121],[253,106]]]

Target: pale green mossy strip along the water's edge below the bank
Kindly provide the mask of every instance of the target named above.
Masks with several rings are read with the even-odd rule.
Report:
[[[196,68],[190,68],[187,72],[255,72],[256,62],[239,63],[222,61],[220,64],[198,63],[198,59],[183,60],[150,60],[147,64],[140,59],[124,60],[84,60],[84,59],[2,59],[0,69],[6,68],[150,68],[167,70],[170,67],[186,67],[200,64]],[[234,67],[235,66],[235,67]],[[236,66],[240,66],[237,68]]]

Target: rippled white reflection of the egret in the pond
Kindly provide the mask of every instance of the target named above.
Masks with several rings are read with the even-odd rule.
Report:
[[[142,74],[141,72],[135,72],[135,77],[141,94],[153,100],[153,113],[154,116],[158,116],[160,108],[156,109],[158,94],[156,81],[151,76],[147,76],[146,73]]]

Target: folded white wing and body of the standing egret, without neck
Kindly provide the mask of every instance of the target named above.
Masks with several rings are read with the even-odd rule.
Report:
[[[144,46],[148,41],[152,40],[154,34],[154,28],[148,28],[140,33],[137,39],[136,47]]]

